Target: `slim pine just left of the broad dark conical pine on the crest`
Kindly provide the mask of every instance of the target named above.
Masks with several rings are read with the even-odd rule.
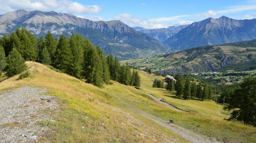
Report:
[[[56,39],[54,39],[51,32],[48,31],[46,34],[46,47],[50,53],[52,62],[54,61],[54,55],[56,52],[57,45],[58,45],[58,41]]]

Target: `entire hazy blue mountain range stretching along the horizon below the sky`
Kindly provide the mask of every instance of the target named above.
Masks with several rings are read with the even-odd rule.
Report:
[[[113,53],[121,60],[256,39],[256,19],[235,20],[225,16],[207,18],[190,25],[147,30],[132,28],[118,20],[91,21],[54,11],[17,10],[0,15],[0,36],[22,26],[38,37],[47,31],[56,37],[79,33],[99,45],[106,54]]]

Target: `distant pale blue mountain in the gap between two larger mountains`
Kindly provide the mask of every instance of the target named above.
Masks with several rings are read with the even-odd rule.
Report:
[[[157,39],[161,42],[164,42],[169,37],[174,36],[177,34],[180,30],[185,28],[188,25],[180,25],[180,26],[170,26],[168,28],[159,28],[159,29],[141,29],[136,27],[135,30],[144,33],[154,39]]]

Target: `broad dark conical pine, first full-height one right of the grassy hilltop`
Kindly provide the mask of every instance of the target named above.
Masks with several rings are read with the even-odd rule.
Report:
[[[59,38],[54,59],[54,66],[57,69],[67,74],[72,73],[71,68],[73,66],[73,55],[69,48],[69,41],[64,35],[61,35]]]

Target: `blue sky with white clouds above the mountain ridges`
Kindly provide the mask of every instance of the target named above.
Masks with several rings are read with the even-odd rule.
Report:
[[[24,9],[72,13],[93,21],[121,20],[144,28],[166,28],[219,18],[256,18],[256,0],[0,0],[0,14]]]

